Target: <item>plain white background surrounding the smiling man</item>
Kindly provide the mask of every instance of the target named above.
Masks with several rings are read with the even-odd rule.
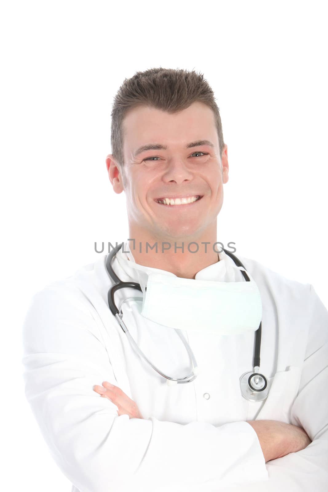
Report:
[[[105,164],[115,93],[151,67],[204,73],[230,167],[218,241],[328,306],[325,2],[11,1],[0,17],[2,481],[70,492],[25,400],[21,330],[37,290],[127,238]]]

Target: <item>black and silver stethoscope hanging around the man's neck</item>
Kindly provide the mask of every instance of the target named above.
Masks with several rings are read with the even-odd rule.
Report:
[[[129,287],[132,289],[138,289],[139,291],[142,292],[142,288],[141,288],[139,283],[137,283],[137,282],[122,282],[121,279],[116,275],[116,273],[114,272],[114,270],[112,268],[113,258],[117,254],[119,249],[122,247],[122,244],[123,243],[121,243],[119,246],[116,246],[115,248],[113,248],[112,251],[110,253],[108,253],[108,255],[106,257],[107,273],[108,273],[109,277],[111,277],[111,279],[115,282],[114,285],[112,285],[108,291],[109,308],[112,311],[112,314],[118,320],[120,327],[122,328],[123,332],[126,334],[127,338],[129,339],[129,341],[130,341],[132,347],[134,348],[134,350],[136,351],[136,353],[139,356],[143,357],[155,371],[157,371],[161,376],[166,378],[168,386],[173,386],[173,385],[181,384],[181,383],[190,383],[191,381],[196,379],[199,371],[198,371],[195,356],[194,356],[194,354],[190,348],[190,345],[188,344],[188,342],[186,341],[182,332],[179,329],[176,329],[176,331],[178,332],[179,337],[183,341],[183,343],[184,343],[184,345],[185,345],[185,347],[186,347],[186,349],[187,349],[187,351],[191,357],[193,370],[190,374],[188,374],[185,377],[174,378],[174,377],[170,377],[170,376],[167,376],[166,374],[164,374],[162,371],[160,371],[158,368],[156,368],[149,361],[149,359],[146,357],[146,355],[142,352],[142,350],[138,347],[137,343],[132,338],[129,330],[127,329],[126,325],[124,324],[124,322],[122,320],[122,316],[123,316],[122,306],[125,302],[130,301],[130,300],[133,300],[133,301],[142,301],[143,300],[142,297],[129,297],[121,303],[119,309],[117,308],[117,306],[115,304],[114,294],[119,289],[122,289],[124,287]],[[223,251],[234,260],[235,264],[238,267],[242,267],[244,270],[246,270],[245,267],[243,266],[243,264],[241,263],[241,261],[233,253],[231,253],[230,251],[227,251],[226,249],[223,249]],[[250,278],[248,277],[247,273],[243,270],[240,270],[240,272],[242,273],[246,282],[249,282]],[[146,290],[147,290],[147,287],[146,287]],[[262,321],[260,322],[259,328],[255,332],[255,347],[254,347],[254,359],[253,359],[254,370],[244,372],[244,374],[242,374],[239,378],[241,395],[246,400],[249,400],[249,401],[263,401],[263,400],[265,400],[268,396],[268,392],[270,389],[268,379],[263,374],[261,374],[259,372],[260,371],[261,333],[262,333]]]

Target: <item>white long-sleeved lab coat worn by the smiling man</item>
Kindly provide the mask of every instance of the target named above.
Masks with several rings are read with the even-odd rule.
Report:
[[[121,254],[114,271],[123,281],[138,281]],[[196,280],[243,279],[229,256],[219,258]],[[240,375],[253,368],[254,333],[182,331],[200,373],[191,383],[167,386],[134,352],[108,307],[105,254],[34,295],[23,328],[25,394],[72,492],[327,491],[327,309],[312,285],[239,258],[261,292],[260,369],[271,385],[264,402],[248,402],[239,387]],[[136,295],[120,290],[117,305]],[[149,360],[170,376],[189,374],[191,361],[176,331],[131,306],[124,305],[123,319]],[[134,400],[144,419],[118,416],[118,407],[93,391],[105,380]],[[313,442],[265,463],[246,422],[255,419],[298,425]]]

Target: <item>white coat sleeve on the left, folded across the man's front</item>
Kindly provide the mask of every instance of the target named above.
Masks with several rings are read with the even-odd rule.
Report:
[[[247,422],[130,419],[93,391],[115,380],[92,304],[76,286],[32,298],[23,326],[25,395],[62,473],[81,492],[184,491],[267,480]],[[256,473],[254,473],[254,469]],[[211,488],[210,490],[213,490]]]

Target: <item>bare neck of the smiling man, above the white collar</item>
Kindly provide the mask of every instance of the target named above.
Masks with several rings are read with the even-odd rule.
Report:
[[[221,245],[215,245],[215,231],[184,238],[155,237],[129,228],[128,251],[139,265],[171,272],[177,277],[195,278],[197,272],[219,261]],[[157,250],[156,250],[157,246]],[[189,247],[188,247],[189,246]],[[152,249],[151,249],[152,248]]]

